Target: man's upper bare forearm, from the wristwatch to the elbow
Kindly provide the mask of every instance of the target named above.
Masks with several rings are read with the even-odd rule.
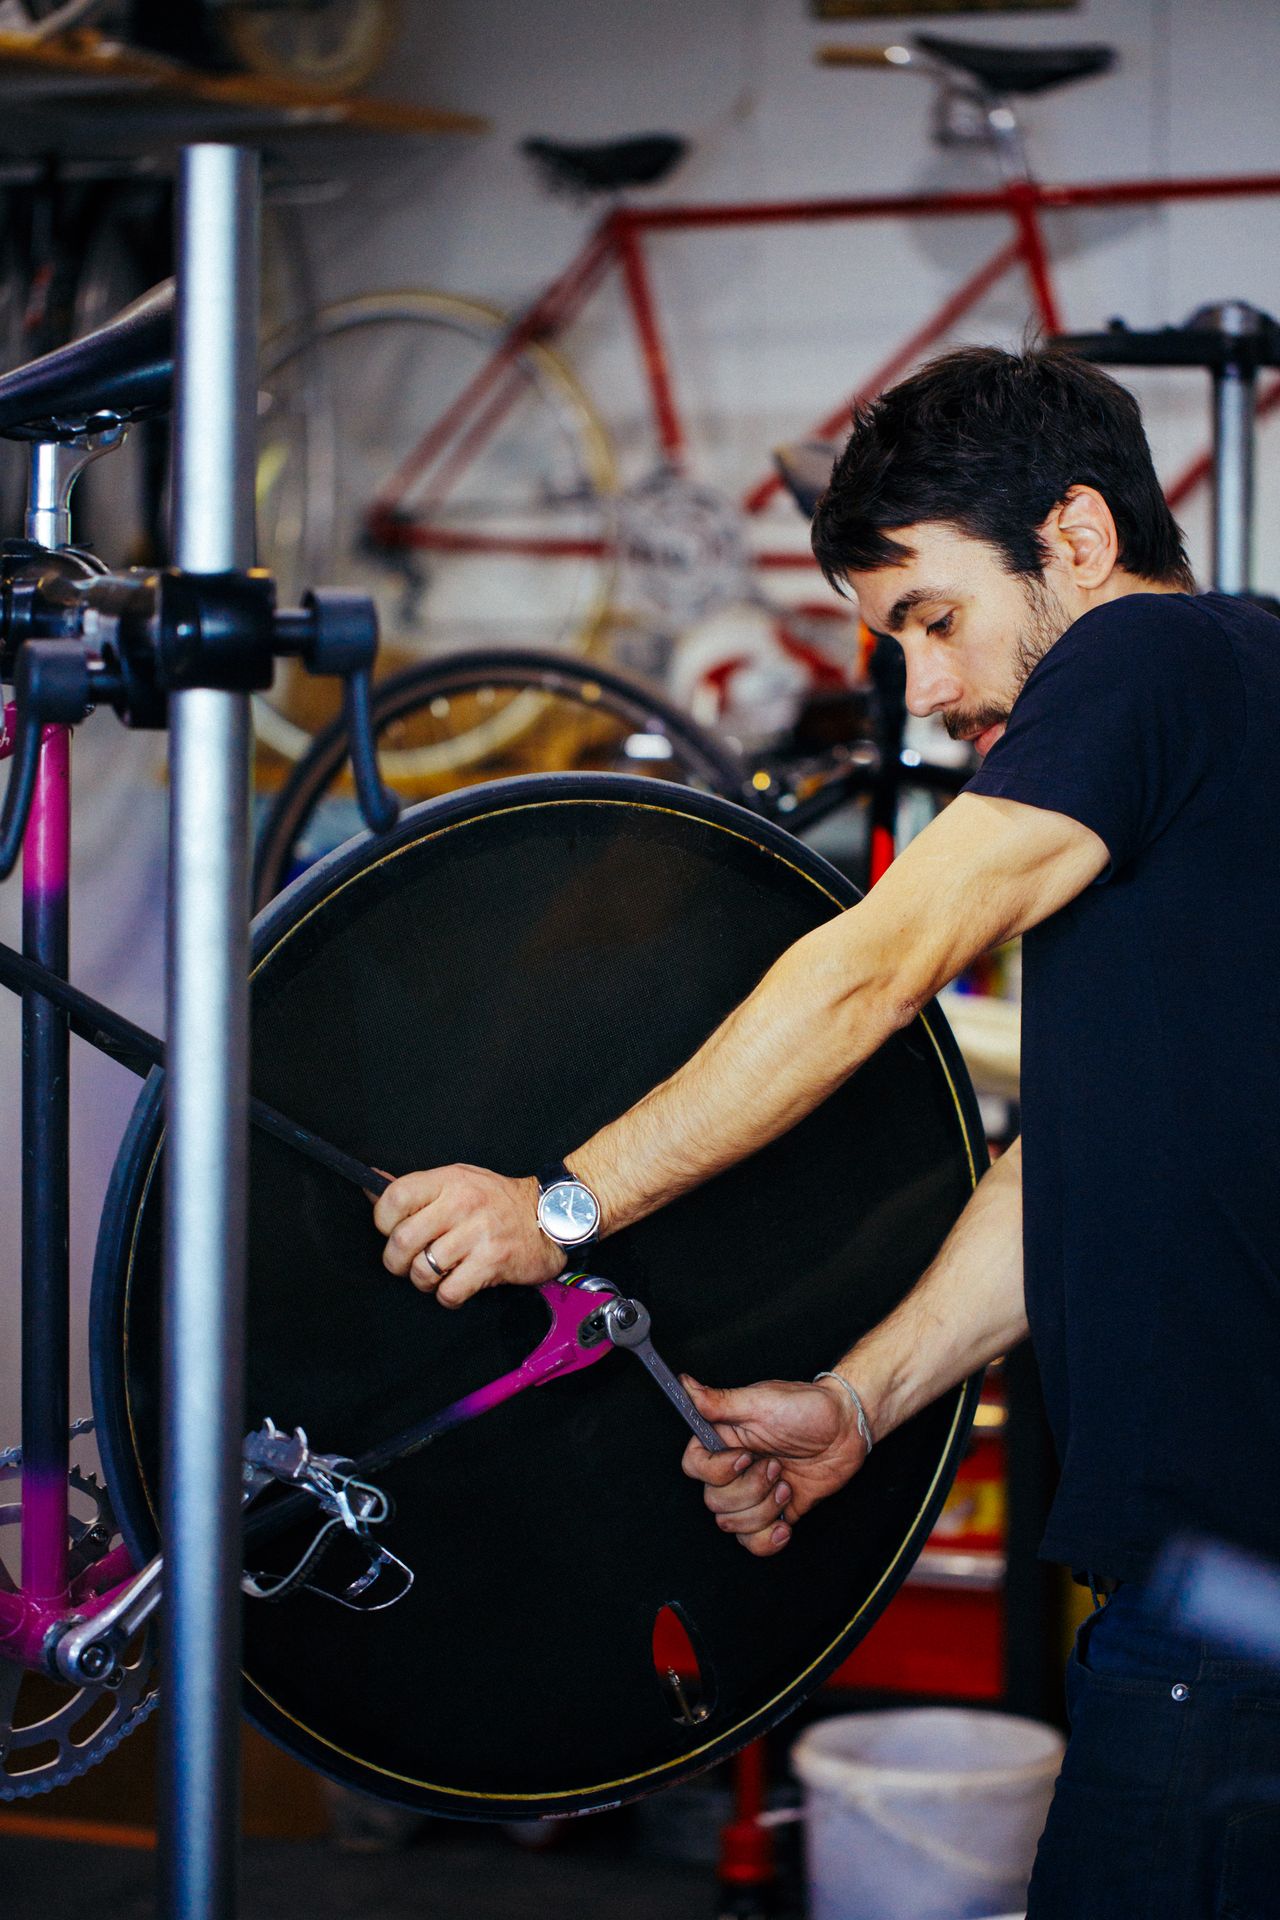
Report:
[[[833,927],[787,948],[677,1073],[570,1154],[601,1198],[603,1233],[775,1140],[910,1018],[889,975],[850,968]]]

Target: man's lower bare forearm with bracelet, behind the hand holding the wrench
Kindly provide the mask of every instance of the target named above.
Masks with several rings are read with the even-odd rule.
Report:
[[[984,1175],[902,1306],[839,1363],[881,1440],[1027,1334],[1023,1146]]]

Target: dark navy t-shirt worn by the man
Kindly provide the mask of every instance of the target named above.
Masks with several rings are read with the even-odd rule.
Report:
[[[1207,1528],[1280,1557],[1280,622],[1221,593],[1094,609],[967,791],[1111,854],[1023,943],[1042,1551],[1136,1578]]]

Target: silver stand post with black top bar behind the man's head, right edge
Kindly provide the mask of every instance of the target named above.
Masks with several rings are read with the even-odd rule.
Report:
[[[1213,586],[1251,595],[1257,374],[1280,367],[1280,324],[1244,300],[1199,307],[1184,326],[1059,334],[1103,367],[1205,367],[1213,376]]]

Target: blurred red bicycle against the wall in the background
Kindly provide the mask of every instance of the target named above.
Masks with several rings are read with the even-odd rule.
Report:
[[[975,140],[992,186],[942,194],[637,205],[628,194],[668,179],[685,154],[674,136],[604,146],[526,142],[557,188],[606,200],[574,259],[510,317],[489,303],[430,290],[367,294],[286,330],[263,371],[259,528],[263,561],[294,582],[324,566],[374,593],[388,664],[478,647],[614,653],[666,678],[699,718],[731,718],[735,680],[760,670],[800,695],[823,664],[842,678],[856,630],[839,630],[823,595],[787,632],[775,584],[814,578],[802,522],[779,501],[770,470],[737,497],[708,486],[677,394],[649,248],[660,234],[812,227],[883,219],[1004,221],[1006,238],[950,298],[810,428],[839,434],[867,399],[938,346],[992,288],[1025,282],[1027,315],[1063,324],[1048,223],[1063,209],[1157,205],[1280,194],[1280,175],[1038,182],[1019,108],[1025,98],[1105,73],[1113,54],[1086,48],[994,48],[917,35],[908,48],[831,50],[825,63],[923,73],[935,131]],[[601,409],[564,355],[564,340],[606,282],[616,282],[639,353],[647,467],[624,474]],[[1263,397],[1274,399],[1274,388]],[[1171,486],[1180,499],[1209,457]],[[733,618],[727,618],[727,612]],[[745,611],[745,612],[743,612]],[[827,626],[821,626],[823,614]],[[723,632],[716,622],[723,622]],[[656,636],[656,641],[654,641]],[[672,637],[681,636],[674,653]],[[693,637],[691,637],[693,636]],[[637,651],[639,649],[639,651]],[[647,649],[647,651],[645,651]],[[681,668],[683,659],[683,668]],[[844,678],[848,678],[844,674]],[[259,737],[278,766],[307,751],[328,714],[284,682],[259,710]],[[729,728],[731,730],[731,728]],[[489,751],[493,730],[478,733]],[[512,732],[512,741],[518,732]],[[449,749],[466,758],[468,749]],[[441,774],[426,743],[397,753],[388,778],[415,791]]]

